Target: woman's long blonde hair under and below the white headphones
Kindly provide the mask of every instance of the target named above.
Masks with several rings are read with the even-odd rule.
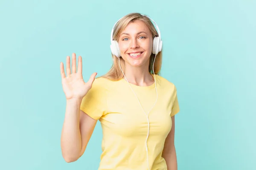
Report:
[[[113,30],[113,40],[118,41],[120,34],[125,29],[125,27],[128,26],[129,23],[134,22],[136,20],[143,21],[146,24],[146,26],[148,26],[153,38],[158,37],[157,30],[154,27],[154,25],[151,23],[151,20],[148,17],[143,16],[140,13],[131,13],[131,14],[127,14],[125,17],[123,17],[121,20],[119,20],[118,23],[116,23],[116,26]],[[154,56],[155,56],[155,54],[151,53],[150,61],[149,61],[149,65],[148,65],[148,71],[151,74],[153,74]],[[112,65],[111,69],[108,71],[108,73],[106,73],[105,75],[103,75],[101,77],[111,79],[113,81],[117,81],[117,80],[123,78],[123,74],[119,67],[119,59],[113,54],[112,54],[112,59],[113,59],[113,65]],[[124,69],[125,61],[124,61],[124,59],[122,59],[122,57],[120,57],[120,65],[121,65],[122,70],[125,73],[125,69]],[[155,62],[154,62],[154,73],[155,74],[160,75],[161,66],[162,66],[162,51],[158,52]]]

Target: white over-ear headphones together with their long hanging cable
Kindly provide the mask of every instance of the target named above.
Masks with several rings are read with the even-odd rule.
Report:
[[[141,15],[143,15],[143,14],[141,14]],[[146,16],[146,15],[143,15],[143,16]],[[148,17],[148,16],[146,16],[146,17]],[[122,18],[123,18],[123,17],[122,17]],[[121,19],[122,19],[122,18],[121,18]],[[152,20],[150,17],[148,17],[148,18],[149,18],[150,20]],[[119,19],[119,20],[121,20],[121,19]],[[119,21],[119,20],[118,20],[118,21]],[[118,22],[118,21],[117,21],[117,22]],[[154,22],[154,20],[152,20],[152,21]],[[117,22],[116,22],[116,23],[117,23]],[[113,26],[112,31],[111,31],[111,45],[110,45],[110,48],[111,48],[112,54],[115,55],[115,56],[119,59],[119,67],[120,67],[120,69],[121,69],[121,71],[122,71],[122,68],[121,68],[121,65],[120,65],[120,58],[119,58],[119,57],[121,57],[121,55],[120,55],[120,50],[119,50],[119,45],[118,45],[118,42],[117,42],[117,41],[113,40],[113,30],[114,30],[114,28],[115,28],[115,26],[116,26],[116,23],[115,23],[115,25]],[[154,23],[155,23],[155,22],[154,22]],[[158,31],[159,37],[154,37],[154,40],[153,40],[153,49],[152,49],[152,53],[155,54],[154,62],[155,62],[155,59],[156,59],[156,56],[157,56],[158,52],[162,51],[162,40],[161,40],[161,36],[160,36],[160,30],[159,30],[159,28],[158,28],[158,26],[157,26],[157,23],[155,23],[155,25],[156,25],[156,27],[157,27],[157,31]],[[154,62],[153,62],[153,73],[154,73]],[[123,74],[124,77],[125,77],[125,74],[124,74],[123,71],[122,71],[122,74]],[[126,77],[125,77],[125,79],[126,79]],[[127,79],[126,79],[126,81],[128,82]],[[155,89],[156,89],[156,94],[157,94],[157,98],[156,98],[156,101],[155,101],[155,103],[154,103],[154,105],[155,105],[155,104],[157,103],[157,99],[158,99],[157,83],[156,83],[155,74],[154,74],[154,83],[155,83]],[[129,84],[129,82],[128,82],[128,84]],[[131,90],[133,91],[134,95],[137,97],[137,99],[138,99],[138,101],[139,101],[139,103],[140,103],[140,100],[139,100],[138,96],[136,95],[136,93],[134,92],[134,90],[132,89],[132,87],[131,87],[130,84],[129,84],[129,86],[130,86]],[[154,108],[154,105],[152,106],[152,108]],[[140,106],[141,106],[143,112],[145,113],[145,111],[144,111],[144,109],[143,109],[141,103],[140,103]],[[152,108],[151,108],[151,110],[152,110]],[[150,110],[150,111],[151,111],[151,110]],[[150,112],[150,111],[149,111],[149,112]],[[149,114],[149,112],[148,112],[148,114]],[[147,133],[147,138],[146,138],[146,141],[145,141],[145,146],[146,146],[146,151],[147,151],[147,165],[148,165],[148,170],[150,170],[150,168],[149,168],[149,163],[148,163],[148,146],[147,146],[147,140],[148,140],[148,136],[149,136],[149,125],[150,125],[150,124],[149,124],[149,119],[148,119],[148,114],[145,113],[145,115],[147,116],[147,121],[148,121],[148,133]]]

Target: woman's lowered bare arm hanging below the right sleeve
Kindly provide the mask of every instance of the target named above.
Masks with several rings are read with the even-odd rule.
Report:
[[[172,116],[172,129],[166,137],[162,157],[166,160],[167,170],[177,170],[177,156],[174,144],[175,116]]]

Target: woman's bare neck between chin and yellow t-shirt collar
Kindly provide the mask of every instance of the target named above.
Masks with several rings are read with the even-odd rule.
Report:
[[[125,65],[125,77],[129,83],[138,86],[149,86],[154,82],[154,77],[148,71],[148,65],[144,67]]]

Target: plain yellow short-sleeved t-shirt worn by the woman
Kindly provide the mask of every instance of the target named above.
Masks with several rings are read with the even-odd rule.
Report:
[[[166,136],[171,130],[172,119],[179,111],[177,91],[172,82],[155,75],[155,83],[137,86],[130,83],[148,114],[148,163],[150,170],[167,170],[162,151]],[[111,81],[96,78],[84,96],[81,110],[102,125],[102,155],[98,170],[148,170],[145,141],[148,120],[137,97],[125,79]]]

